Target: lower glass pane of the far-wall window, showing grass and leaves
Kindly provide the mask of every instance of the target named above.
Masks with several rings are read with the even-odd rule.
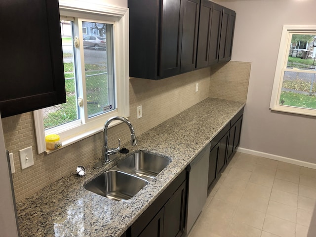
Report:
[[[284,72],[279,105],[316,109],[315,73]]]

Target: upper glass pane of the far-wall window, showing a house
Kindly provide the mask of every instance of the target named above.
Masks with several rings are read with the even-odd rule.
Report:
[[[316,35],[291,35],[287,68],[315,69],[316,48],[314,40],[316,40]]]

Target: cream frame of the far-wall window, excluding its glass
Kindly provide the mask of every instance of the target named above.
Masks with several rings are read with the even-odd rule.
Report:
[[[283,83],[283,75],[284,69],[286,68],[287,59],[288,59],[288,52],[290,43],[290,33],[293,32],[300,32],[303,34],[311,34],[312,32],[316,32],[316,25],[283,25],[282,36],[280,41],[280,47],[276,62],[276,73],[275,79],[272,88],[272,95],[270,101],[270,109],[274,111],[286,112],[286,113],[293,113],[293,114],[300,114],[300,115],[309,115],[309,116],[316,116],[315,109],[308,109],[308,108],[299,108],[293,107],[288,105],[279,105],[282,83]],[[286,71],[292,71],[290,69],[286,69]],[[295,71],[293,69],[293,71]],[[297,70],[296,70],[297,71]],[[299,70],[302,73],[313,73],[308,70]]]

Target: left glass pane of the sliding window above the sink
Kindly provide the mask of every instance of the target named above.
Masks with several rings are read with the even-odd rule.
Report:
[[[63,45],[66,99],[64,104],[42,109],[44,128],[52,128],[79,119],[73,46],[73,22],[60,22]]]

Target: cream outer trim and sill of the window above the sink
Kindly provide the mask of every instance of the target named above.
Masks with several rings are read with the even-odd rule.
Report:
[[[60,135],[62,147],[73,144],[88,136],[96,134],[103,130],[107,119],[114,116],[129,117],[129,35],[128,35],[128,8],[110,6],[99,3],[78,0],[59,0],[59,9],[61,16],[80,17],[86,19],[102,19],[104,21],[114,22],[114,62],[115,62],[115,83],[116,83],[116,104],[117,110],[92,118],[81,118],[81,121],[75,124],[65,124],[58,126],[57,129],[49,129],[45,132],[41,110],[34,111],[34,123],[37,138],[38,154],[46,151],[45,135],[57,133]],[[81,39],[82,42],[82,29]],[[83,45],[80,44],[80,50],[83,51]],[[80,75],[79,75],[80,76]],[[86,105],[86,99],[83,100]],[[111,126],[120,123],[114,121]]]

